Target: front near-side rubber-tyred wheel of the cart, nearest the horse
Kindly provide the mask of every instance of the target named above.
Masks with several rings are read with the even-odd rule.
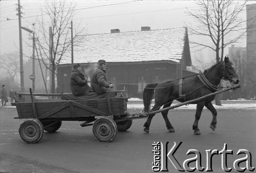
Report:
[[[111,142],[117,134],[117,125],[113,119],[100,117],[93,123],[93,135],[99,141]]]

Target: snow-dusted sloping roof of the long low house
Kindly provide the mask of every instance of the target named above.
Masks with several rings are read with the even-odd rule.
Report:
[[[74,63],[173,61],[180,62],[186,28],[78,35]],[[71,63],[71,48],[59,64]]]

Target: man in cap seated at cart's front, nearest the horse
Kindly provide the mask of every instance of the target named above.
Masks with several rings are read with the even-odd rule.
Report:
[[[107,91],[113,90],[114,84],[106,80],[106,61],[100,59],[98,68],[92,75],[92,89],[96,94],[104,94]]]

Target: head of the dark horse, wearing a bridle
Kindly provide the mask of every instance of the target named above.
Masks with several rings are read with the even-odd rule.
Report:
[[[223,67],[222,68],[222,77],[224,79],[228,79],[233,84],[238,84],[239,83],[238,74],[236,73],[236,70],[234,70],[234,66],[233,66],[232,62],[229,61],[227,56],[225,56],[225,58],[224,58],[222,67]]]

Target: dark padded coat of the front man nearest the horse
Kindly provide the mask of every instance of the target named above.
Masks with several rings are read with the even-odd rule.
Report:
[[[92,89],[96,94],[103,94],[109,91],[110,83],[106,80],[106,73],[102,69],[96,69],[92,75]]]

